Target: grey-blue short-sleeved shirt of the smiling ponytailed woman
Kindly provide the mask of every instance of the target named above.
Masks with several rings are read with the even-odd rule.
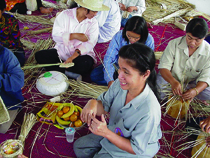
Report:
[[[108,128],[130,140],[136,155],[119,149],[108,139],[100,142],[99,153],[109,153],[113,157],[153,157],[159,150],[161,108],[153,91],[147,84],[141,94],[125,105],[127,90],[120,87],[119,80],[107,92],[98,97],[104,110],[110,112]]]

